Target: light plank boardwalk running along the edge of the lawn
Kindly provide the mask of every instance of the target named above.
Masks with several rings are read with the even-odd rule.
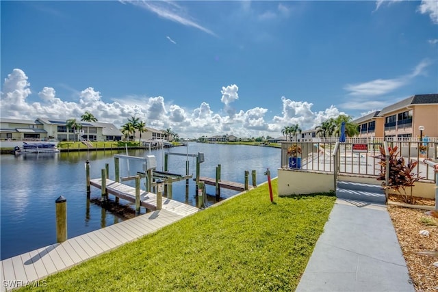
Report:
[[[148,194],[151,196],[151,193]],[[183,203],[180,204],[185,206],[179,206],[174,203],[176,201],[171,201],[163,200],[162,210],[73,237],[63,243],[55,243],[6,258],[0,262],[0,291],[10,291],[27,284],[31,287],[49,287],[50,283],[42,280],[47,276],[154,233],[164,226],[198,212],[196,207]],[[34,283],[30,284],[31,282]]]

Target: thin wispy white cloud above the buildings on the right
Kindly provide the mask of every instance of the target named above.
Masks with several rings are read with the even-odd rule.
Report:
[[[430,66],[432,62],[428,59],[422,60],[409,75],[402,75],[394,79],[375,79],[368,82],[347,84],[344,86],[344,90],[347,90],[350,96],[376,96],[387,94],[402,87],[402,85],[408,83],[414,77],[424,74],[424,70]]]

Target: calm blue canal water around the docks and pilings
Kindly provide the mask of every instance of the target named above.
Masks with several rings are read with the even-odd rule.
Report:
[[[223,180],[244,183],[244,171],[256,170],[257,184],[267,181],[263,174],[270,168],[271,176],[277,175],[280,165],[280,149],[270,147],[200,144],[191,142],[188,147],[166,148],[166,152],[196,154],[203,152],[205,162],[201,163],[201,176],[216,176],[216,166],[221,165]],[[162,170],[163,150],[129,150],[129,155],[146,157],[155,155],[157,170]],[[59,196],[67,199],[68,238],[89,233],[123,221],[91,203],[86,198],[85,161],[90,160],[90,176],[98,178],[105,163],[110,165],[110,179],[114,180],[115,154],[125,151],[62,152],[57,155],[1,155],[0,207],[1,207],[1,245],[0,258],[10,258],[23,252],[42,248],[56,241],[55,200]],[[188,157],[190,174],[196,176],[196,159]],[[185,174],[186,157],[169,155],[168,171]],[[120,176],[136,174],[142,165],[135,161],[120,159]],[[144,180],[142,180],[142,188]],[[251,183],[251,181],[250,181]],[[209,205],[216,202],[215,189],[207,186]],[[229,198],[237,191],[221,189],[221,198]],[[101,191],[91,188],[91,198],[100,198]],[[110,196],[114,198],[114,196]],[[185,181],[173,184],[174,200],[196,206],[195,185],[190,180],[186,194]],[[120,200],[120,203],[128,202]],[[141,210],[144,213],[144,208]]]

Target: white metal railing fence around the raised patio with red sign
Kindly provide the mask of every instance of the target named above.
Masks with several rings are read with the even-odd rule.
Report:
[[[381,173],[380,147],[383,141],[362,141],[357,138],[346,143],[339,143],[338,172],[339,174],[357,174],[364,176],[378,176]],[[387,141],[388,147],[398,147],[398,157],[404,157],[406,163],[409,160],[418,161],[415,172],[419,173],[424,180],[435,181],[433,168],[424,163],[424,159],[438,159],[438,140],[429,142],[415,141]],[[288,153],[293,145],[300,148],[296,157]],[[303,170],[315,170],[320,172],[333,172],[336,141],[330,142],[283,142],[281,144],[281,168],[300,168]]]

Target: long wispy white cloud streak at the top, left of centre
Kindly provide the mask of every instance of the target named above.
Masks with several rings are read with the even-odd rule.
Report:
[[[185,25],[188,27],[194,27],[201,31],[206,32],[207,34],[211,34],[212,36],[216,36],[213,31],[203,27],[198,24],[191,16],[186,14],[185,9],[181,6],[177,5],[177,3],[173,1],[120,1],[121,3],[130,3],[132,5],[140,6],[146,10],[154,12],[158,16],[162,18],[166,18],[169,21],[173,21],[175,23],[180,23],[181,25]]]

